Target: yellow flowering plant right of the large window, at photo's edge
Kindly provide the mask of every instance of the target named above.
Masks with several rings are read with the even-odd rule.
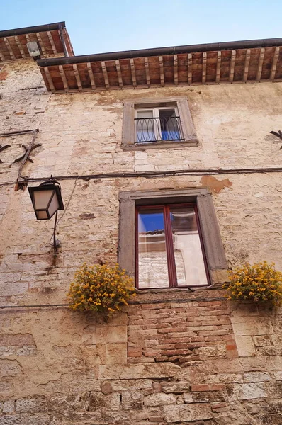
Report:
[[[227,285],[223,285],[226,288]],[[276,271],[274,263],[249,263],[230,271],[227,287],[228,300],[252,300],[282,304],[282,273]]]

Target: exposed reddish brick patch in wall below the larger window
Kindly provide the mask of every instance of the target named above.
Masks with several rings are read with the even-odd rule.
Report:
[[[237,357],[226,301],[149,303],[129,314],[129,363]]]

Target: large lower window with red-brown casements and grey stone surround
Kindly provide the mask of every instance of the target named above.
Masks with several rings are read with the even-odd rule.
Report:
[[[137,288],[205,286],[227,270],[205,188],[121,192],[119,230],[118,262]]]

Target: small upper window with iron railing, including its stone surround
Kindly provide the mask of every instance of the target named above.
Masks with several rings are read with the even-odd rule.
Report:
[[[197,143],[187,98],[125,101],[124,149],[194,146]]]

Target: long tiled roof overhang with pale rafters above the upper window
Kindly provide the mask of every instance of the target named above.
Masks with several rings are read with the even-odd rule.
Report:
[[[48,91],[100,91],[282,79],[282,38],[38,60]]]

